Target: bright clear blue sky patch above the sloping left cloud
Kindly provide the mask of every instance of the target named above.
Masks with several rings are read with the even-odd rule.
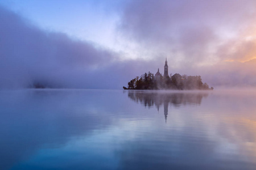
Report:
[[[121,2],[121,1],[120,1]],[[76,39],[113,43],[118,16],[115,1],[1,1],[33,24],[48,31],[67,33]]]

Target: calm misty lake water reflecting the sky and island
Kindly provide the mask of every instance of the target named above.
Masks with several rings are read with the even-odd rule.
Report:
[[[256,169],[256,91],[0,91],[0,169]]]

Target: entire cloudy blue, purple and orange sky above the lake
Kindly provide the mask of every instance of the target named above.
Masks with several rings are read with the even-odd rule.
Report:
[[[0,1],[0,88],[122,89],[145,72],[256,86],[256,1]]]

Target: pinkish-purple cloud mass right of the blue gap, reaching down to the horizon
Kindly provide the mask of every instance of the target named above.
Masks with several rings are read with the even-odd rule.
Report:
[[[251,0],[132,0],[118,29],[167,56],[170,73],[201,75],[213,87],[255,86],[255,17]]]

